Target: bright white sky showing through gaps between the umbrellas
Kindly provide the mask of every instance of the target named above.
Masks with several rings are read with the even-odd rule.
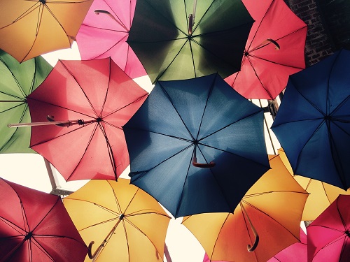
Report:
[[[80,60],[80,54],[78,52],[78,46],[73,43],[71,49],[59,50],[50,54],[44,54],[43,57],[49,61],[52,66],[55,66],[58,59],[63,60]],[[140,78],[135,80],[141,87],[144,87],[146,91],[151,92],[151,81],[148,78]],[[269,114],[267,116],[267,125],[271,126],[272,119]],[[266,133],[267,129],[265,129]],[[272,133],[273,136],[273,133]],[[276,138],[275,150],[279,148]],[[274,154],[270,147],[271,142],[267,140],[267,147],[269,154]],[[129,170],[125,170],[127,174]],[[85,184],[86,181],[73,181],[65,182],[63,177],[59,175],[55,170],[58,182],[57,185],[63,189],[69,189],[75,191]],[[129,178],[127,175],[122,177]],[[50,192],[52,187],[48,177],[47,170],[43,158],[39,154],[0,154],[0,176],[6,180],[22,184],[25,187]],[[166,244],[169,249],[169,254],[172,258],[172,262],[202,262],[204,257],[204,249],[197,241],[195,236],[188,231],[185,226],[181,225],[181,219],[172,219],[169,224],[169,230],[167,233]],[[166,261],[166,259],[165,259]]]

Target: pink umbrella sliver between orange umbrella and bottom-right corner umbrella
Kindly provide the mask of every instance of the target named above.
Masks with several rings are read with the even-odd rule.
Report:
[[[306,262],[307,261],[307,235],[300,228],[300,242],[286,247],[267,262]]]

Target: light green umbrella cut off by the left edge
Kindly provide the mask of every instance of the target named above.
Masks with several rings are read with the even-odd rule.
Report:
[[[27,96],[48,76],[52,66],[43,57],[20,64],[0,50],[0,152],[34,153],[29,148],[30,127],[8,129],[10,122],[30,122]]]

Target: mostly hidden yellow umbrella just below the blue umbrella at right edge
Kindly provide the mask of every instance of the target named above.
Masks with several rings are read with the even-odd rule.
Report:
[[[277,151],[290,174],[293,175],[294,179],[300,184],[300,186],[302,186],[302,188],[310,194],[309,198],[307,198],[307,202],[305,203],[304,212],[302,213],[302,220],[315,220],[319,214],[321,214],[333,201],[335,201],[339,194],[350,194],[350,189],[345,191],[344,189],[335,187],[332,184],[319,180],[313,180],[309,177],[302,177],[301,175],[295,175],[283,148],[280,148]]]

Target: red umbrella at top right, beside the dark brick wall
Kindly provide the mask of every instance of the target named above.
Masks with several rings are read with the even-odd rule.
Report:
[[[305,68],[307,24],[283,0],[243,0],[255,20],[241,70],[225,81],[247,99],[275,99],[288,76]]]

